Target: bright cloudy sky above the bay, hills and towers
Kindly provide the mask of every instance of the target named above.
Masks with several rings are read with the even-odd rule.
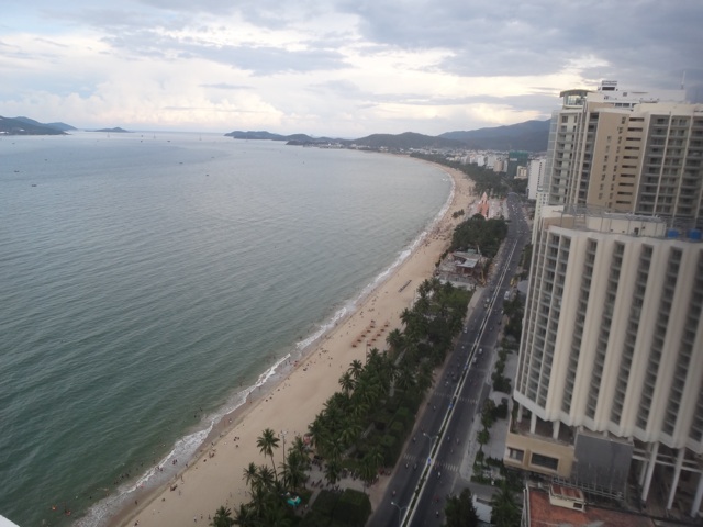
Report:
[[[702,0],[12,0],[0,16],[0,115],[78,127],[437,135],[684,71],[703,99]]]

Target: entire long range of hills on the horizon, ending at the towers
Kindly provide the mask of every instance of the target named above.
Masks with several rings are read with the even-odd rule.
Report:
[[[477,150],[527,150],[545,152],[549,136],[549,120],[527,121],[509,126],[480,128],[469,132],[447,132],[438,136],[405,132],[403,134],[372,134],[358,139],[335,139],[330,137],[311,137],[305,134],[279,135],[270,132],[230,132],[224,134],[235,139],[287,141],[293,145],[338,144],[357,145],[366,148],[390,150],[409,149],[461,149]]]

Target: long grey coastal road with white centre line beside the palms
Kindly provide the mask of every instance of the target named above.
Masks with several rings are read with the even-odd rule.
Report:
[[[509,194],[509,233],[494,259],[493,270],[455,350],[447,357],[444,374],[436,380],[424,412],[393,472],[386,495],[368,525],[437,526],[444,522],[446,496],[469,483],[459,473],[469,456],[473,419],[480,419],[489,395],[494,349],[505,292],[515,274],[522,249],[529,239],[520,199]],[[434,456],[431,452],[434,451]],[[424,484],[419,486],[421,478]],[[410,505],[417,494],[415,506]]]

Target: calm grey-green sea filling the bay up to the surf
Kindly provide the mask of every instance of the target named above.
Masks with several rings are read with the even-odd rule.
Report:
[[[99,525],[167,478],[154,468],[283,374],[450,192],[439,167],[380,154],[0,137],[0,514]]]

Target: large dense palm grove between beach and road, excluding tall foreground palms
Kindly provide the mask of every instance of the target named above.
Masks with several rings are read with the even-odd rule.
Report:
[[[342,390],[326,401],[309,426],[316,451],[327,463],[330,483],[334,484],[349,457],[356,458],[356,464],[346,466],[356,469],[366,483],[373,481],[388,460],[378,444],[368,441],[375,416],[397,408],[402,394],[422,397],[432,385],[433,369],[442,363],[461,328],[468,292],[436,279],[423,282],[417,292],[415,305],[401,314],[404,330],[393,329],[387,337],[389,352],[373,348],[366,363],[354,360],[339,378]]]

